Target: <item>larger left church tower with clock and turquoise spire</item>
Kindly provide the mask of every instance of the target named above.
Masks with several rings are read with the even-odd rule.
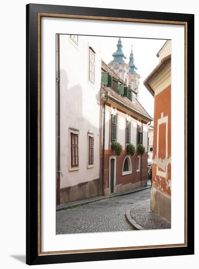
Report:
[[[122,51],[121,39],[119,38],[117,44],[117,51],[112,54],[113,60],[108,66],[128,85],[128,69],[129,66],[125,63],[126,57]]]

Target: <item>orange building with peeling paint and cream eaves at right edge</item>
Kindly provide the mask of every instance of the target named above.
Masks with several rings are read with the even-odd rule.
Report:
[[[144,80],[155,98],[151,210],[171,221],[171,41],[157,56],[158,66]]]

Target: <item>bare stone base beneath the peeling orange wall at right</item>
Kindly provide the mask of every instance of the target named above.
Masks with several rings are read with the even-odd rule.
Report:
[[[151,210],[171,222],[171,197],[151,188]]]

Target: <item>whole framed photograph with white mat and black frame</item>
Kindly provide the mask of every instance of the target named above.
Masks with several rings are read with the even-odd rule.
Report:
[[[194,254],[194,15],[26,6],[26,263]]]

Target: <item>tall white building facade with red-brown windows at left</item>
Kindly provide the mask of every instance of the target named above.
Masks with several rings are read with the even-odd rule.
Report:
[[[100,195],[99,39],[57,35],[57,203]]]

